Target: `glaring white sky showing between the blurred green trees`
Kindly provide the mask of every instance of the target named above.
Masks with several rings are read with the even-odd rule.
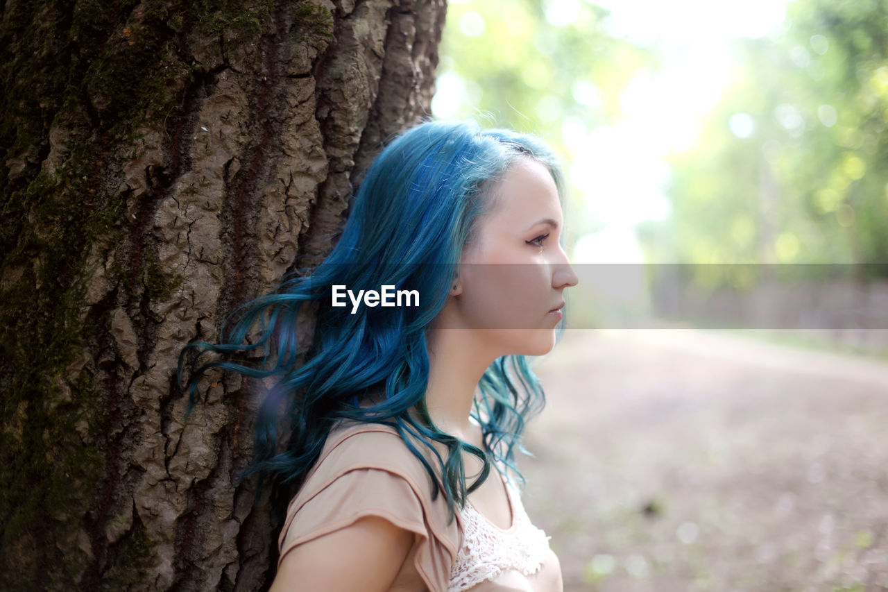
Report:
[[[567,25],[573,22],[583,1],[544,0],[546,19],[555,26]],[[592,3],[610,11],[607,28],[612,36],[658,48],[662,68],[656,72],[641,70],[632,79],[622,94],[626,116],[620,123],[587,130],[580,121],[568,119],[561,126],[562,137],[572,153],[568,157],[574,163],[569,169],[571,181],[580,189],[588,213],[604,226],[600,232],[576,241],[572,257],[575,263],[641,262],[636,225],[670,215],[669,200],[662,195],[662,185],[669,179],[664,155],[693,145],[702,116],[725,92],[730,82],[730,40],[765,36],[778,30],[788,3],[789,0]],[[472,22],[460,22],[460,26],[472,27]],[[464,90],[453,84],[454,81],[439,79],[439,90],[432,101],[436,116],[446,117],[456,111],[456,101]],[[575,96],[577,92],[582,93],[583,89],[575,88]],[[738,135],[747,124],[741,115],[730,122]],[[597,253],[607,253],[607,261]]]

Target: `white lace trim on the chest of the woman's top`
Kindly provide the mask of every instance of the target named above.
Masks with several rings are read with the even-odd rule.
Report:
[[[505,485],[512,516],[508,530],[492,524],[471,501],[460,512],[463,541],[450,569],[448,592],[462,592],[484,580],[493,580],[504,570],[533,575],[548,556],[551,537],[531,524],[519,492],[510,483]]]

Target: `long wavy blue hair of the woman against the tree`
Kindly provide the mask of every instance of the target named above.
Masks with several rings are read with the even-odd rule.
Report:
[[[480,216],[488,211],[488,188],[519,158],[546,165],[563,196],[564,180],[558,158],[541,140],[507,130],[481,130],[472,122],[425,122],[401,133],[371,164],[354,198],[345,228],[329,256],[310,274],[293,272],[271,293],[226,317],[220,343],[193,341],[178,358],[182,385],[186,352],[191,374],[185,388],[190,404],[197,383],[212,368],[240,372],[251,378],[278,377],[261,404],[254,459],[245,476],[258,473],[259,485],[270,482],[298,488],[318,459],[329,432],[339,420],[384,423],[398,430],[411,452],[432,478],[437,497],[442,476],[451,519],[455,505],[487,478],[492,458],[523,481],[514,450],[528,418],[545,404],[543,389],[525,356],[503,356],[491,364],[479,383],[472,416],[484,435],[486,451],[450,436],[432,423],[425,406],[429,359],[425,331],[448,298],[458,273],[464,245],[472,239]],[[344,284],[353,291],[394,285],[423,295],[418,307],[367,307],[350,310],[332,306],[330,286]],[[298,351],[305,313],[314,309],[313,345]],[[302,316],[297,323],[297,317]],[[239,320],[230,331],[226,324]],[[258,341],[246,343],[259,324]],[[302,335],[305,340],[305,335]],[[260,349],[258,367],[231,360],[202,365],[201,354],[223,358]],[[274,365],[271,361],[274,360]],[[377,402],[362,407],[362,397]],[[410,410],[416,409],[416,415]],[[190,406],[189,406],[190,410]],[[289,425],[285,450],[279,428]],[[432,443],[445,444],[443,457]],[[437,460],[433,468],[416,444],[426,445]],[[483,469],[467,487],[462,452],[483,461]]]

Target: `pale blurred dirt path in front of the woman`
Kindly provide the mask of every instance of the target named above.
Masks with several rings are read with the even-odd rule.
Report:
[[[888,364],[567,332],[522,459],[567,590],[888,589]]]

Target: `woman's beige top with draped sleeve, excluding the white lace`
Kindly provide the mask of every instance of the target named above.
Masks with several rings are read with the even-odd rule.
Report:
[[[437,467],[424,444],[417,449]],[[495,475],[496,475],[495,471]],[[516,500],[511,499],[512,516]],[[517,505],[520,508],[518,500]],[[519,509],[523,513],[523,508]],[[321,456],[290,501],[278,541],[278,566],[297,545],[345,528],[365,516],[379,516],[409,532],[414,544],[392,583],[394,590],[448,592],[451,568],[464,543],[464,517],[448,524],[448,508],[439,492],[432,500],[432,483],[422,463],[409,451],[397,431],[371,423],[333,429]],[[534,574],[504,570],[471,588],[472,592],[527,590],[558,592],[558,558],[548,555]]]

